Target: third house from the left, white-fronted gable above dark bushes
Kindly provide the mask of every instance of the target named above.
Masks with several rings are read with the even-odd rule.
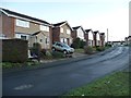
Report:
[[[83,29],[82,26],[75,26],[75,27],[72,27],[73,30],[71,33],[71,36],[73,38],[73,40],[75,40],[76,38],[80,38],[82,40],[85,41],[85,38],[84,38],[84,34],[85,34],[85,30]]]

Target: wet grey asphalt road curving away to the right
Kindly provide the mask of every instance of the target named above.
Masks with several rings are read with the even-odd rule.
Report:
[[[60,96],[129,65],[129,48],[48,69],[3,74],[2,96]]]

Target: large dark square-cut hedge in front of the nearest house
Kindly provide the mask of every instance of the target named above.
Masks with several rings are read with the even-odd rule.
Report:
[[[22,39],[2,39],[3,62],[25,62],[27,60],[27,41]],[[1,42],[0,42],[1,44]]]

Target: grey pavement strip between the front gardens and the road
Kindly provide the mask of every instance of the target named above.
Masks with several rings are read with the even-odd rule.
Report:
[[[105,53],[115,50],[116,48],[109,48],[103,52],[94,53],[94,54],[84,54],[84,53],[73,53],[72,58],[63,58],[63,59],[56,59],[56,60],[41,60],[40,64],[38,65],[23,65],[22,68],[14,68],[14,69],[4,69],[2,70],[2,74],[13,73],[13,72],[21,72],[21,71],[32,71],[38,69],[48,69],[53,66],[59,66],[72,62],[79,62],[86,59],[92,59],[97,56],[104,56]]]

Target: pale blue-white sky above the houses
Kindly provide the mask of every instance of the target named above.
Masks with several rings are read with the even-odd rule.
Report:
[[[124,40],[129,36],[130,0],[1,0],[5,8],[49,23],[68,21],[106,34],[108,40]]]

